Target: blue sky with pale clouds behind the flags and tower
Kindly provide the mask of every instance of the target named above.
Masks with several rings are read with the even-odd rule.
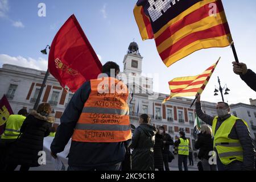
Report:
[[[46,4],[46,17],[38,16],[38,4]],[[142,41],[134,19],[133,8],[137,1],[132,0],[0,0],[0,67],[2,64],[18,64],[37,69],[47,68],[47,56],[40,53],[52,39],[61,25],[75,14],[82,29],[92,44],[102,64],[116,61],[123,69],[123,56],[130,42],[139,45],[143,58],[144,74],[159,74],[154,78],[155,91],[170,93],[168,81],[175,77],[192,76],[203,72],[219,56],[220,63],[202,100],[217,102],[214,85],[220,76],[222,86],[231,90],[229,104],[249,103],[255,92],[247,87],[239,76],[232,72],[233,53],[230,47],[212,48],[197,51],[167,68],[156,51],[154,40]],[[256,72],[256,1],[222,0],[240,61]]]

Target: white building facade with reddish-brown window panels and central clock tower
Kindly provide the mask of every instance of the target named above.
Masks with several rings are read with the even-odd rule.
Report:
[[[123,59],[122,74],[122,77],[129,77],[127,85],[130,92],[134,93],[129,106],[131,126],[137,127],[139,115],[146,113],[150,115],[152,125],[164,126],[166,132],[174,139],[179,137],[179,131],[184,131],[193,148],[195,142],[193,138],[195,105],[190,108],[192,100],[183,97],[172,98],[172,100],[162,104],[168,95],[152,91],[152,78],[142,76],[142,60],[143,57],[139,53],[137,43],[131,43]],[[0,68],[0,97],[6,94],[15,114],[22,108],[31,110],[38,97],[45,74],[46,72],[36,69],[4,64]],[[65,106],[73,96],[73,93],[68,88],[66,89],[61,88],[59,82],[49,75],[40,100],[40,102],[51,104],[56,117],[54,124],[56,127],[60,123],[60,117]],[[158,97],[152,100],[149,96],[153,95]],[[202,101],[201,105],[206,114],[217,115],[216,103]],[[251,117],[246,117],[247,110],[250,111]],[[232,105],[232,112],[236,112],[238,117],[245,118],[249,122],[251,133],[253,133],[252,137],[255,139],[256,106]],[[233,114],[235,115],[235,113]]]

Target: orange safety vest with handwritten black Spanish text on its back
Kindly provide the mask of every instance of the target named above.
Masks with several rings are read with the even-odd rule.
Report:
[[[131,139],[127,86],[113,77],[90,80],[90,86],[91,92],[72,140],[123,142]]]

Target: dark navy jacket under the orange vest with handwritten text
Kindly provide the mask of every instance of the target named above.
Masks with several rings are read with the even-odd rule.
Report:
[[[56,154],[62,152],[69,139],[71,139],[90,92],[90,81],[86,81],[73,95],[60,118],[60,125],[57,128],[55,138],[51,144],[52,152]],[[122,162],[125,159],[126,153],[124,143],[125,142],[94,143],[72,141],[68,155],[68,164],[69,166],[75,167],[97,167]],[[129,144],[127,144],[127,146],[128,145]]]

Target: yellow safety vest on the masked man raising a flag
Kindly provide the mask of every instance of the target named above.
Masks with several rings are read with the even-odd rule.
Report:
[[[218,117],[216,116],[213,119],[212,125],[212,132],[214,137],[213,147],[216,147],[221,163],[228,165],[234,160],[243,162],[243,148],[241,146],[240,140],[229,138],[229,134],[233,126],[235,125],[237,119],[240,118],[234,117],[232,115],[221,124],[215,133],[217,119]],[[243,121],[243,123],[245,123],[245,125],[248,127],[245,121]]]

